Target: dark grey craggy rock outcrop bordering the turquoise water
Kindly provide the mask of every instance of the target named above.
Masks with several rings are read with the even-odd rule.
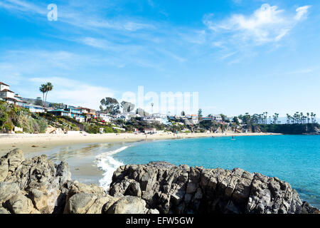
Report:
[[[142,197],[160,213],[316,213],[277,177],[233,170],[203,169],[168,162],[119,167],[110,195]]]

